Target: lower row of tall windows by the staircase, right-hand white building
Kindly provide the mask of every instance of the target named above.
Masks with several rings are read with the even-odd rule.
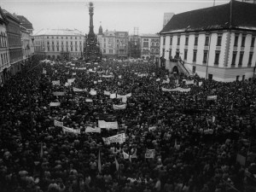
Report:
[[[204,50],[203,61],[202,61],[203,63],[207,63],[208,52],[209,52],[208,50]],[[165,53],[165,49],[163,49],[163,53]],[[177,53],[179,53],[179,49],[177,49]],[[218,65],[219,55],[220,55],[220,50],[215,50],[214,65]],[[237,51],[233,51],[232,62],[231,62],[232,66],[236,65],[236,55],[237,55]],[[244,51],[240,51],[239,61],[238,61],[239,66],[242,65],[243,55],[244,55]],[[192,60],[193,62],[196,62],[196,56],[197,56],[197,49],[194,49],[193,50],[193,60]],[[188,49],[184,49],[183,60],[187,60],[187,58],[188,58]],[[172,49],[169,50],[169,59],[170,60],[172,59]],[[252,60],[253,60],[253,52],[250,52],[248,63],[247,63],[248,67],[250,67],[252,65]]]

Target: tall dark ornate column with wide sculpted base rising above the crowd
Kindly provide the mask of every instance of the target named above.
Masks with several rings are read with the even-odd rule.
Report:
[[[99,44],[97,43],[96,34],[93,32],[93,3],[89,3],[89,15],[90,15],[90,31],[89,34],[85,34],[85,46],[84,46],[84,60],[88,61],[101,61],[102,54]]]

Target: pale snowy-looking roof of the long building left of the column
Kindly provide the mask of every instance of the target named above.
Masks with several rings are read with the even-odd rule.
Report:
[[[36,32],[34,36],[41,35],[63,35],[63,36],[84,36],[83,32],[80,32],[77,29],[41,29]]]

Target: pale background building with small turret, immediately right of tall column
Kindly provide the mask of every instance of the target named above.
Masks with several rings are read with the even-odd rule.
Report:
[[[128,32],[115,32],[108,30],[106,32],[102,32],[102,26],[100,26],[97,37],[103,57],[128,57]]]

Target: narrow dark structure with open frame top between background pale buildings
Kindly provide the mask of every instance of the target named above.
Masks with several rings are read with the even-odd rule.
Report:
[[[132,58],[141,57],[141,39],[139,38],[138,31],[139,28],[134,27],[134,32],[129,42],[129,56]]]

